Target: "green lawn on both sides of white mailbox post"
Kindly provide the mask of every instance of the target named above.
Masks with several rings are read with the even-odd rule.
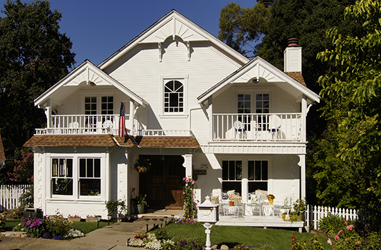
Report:
[[[205,228],[199,223],[168,224],[162,230],[167,231],[170,238],[177,235],[197,234],[204,235],[206,238]],[[213,226],[211,228],[211,242],[219,245],[226,244],[230,248],[238,244],[260,243],[271,245],[278,250],[290,250],[292,249],[292,235],[296,235],[299,240],[308,240],[312,233],[299,233],[297,229],[263,229],[261,227]],[[324,244],[324,248],[330,247],[324,236],[320,236],[320,241]]]

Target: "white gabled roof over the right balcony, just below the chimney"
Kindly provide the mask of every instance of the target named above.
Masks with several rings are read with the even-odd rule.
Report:
[[[292,73],[291,75],[296,77],[298,74]],[[256,84],[258,81],[260,83],[267,82],[274,84],[296,99],[305,95],[308,99],[308,104],[320,102],[319,95],[307,88],[305,84],[303,85],[299,81],[296,81],[296,79],[269,64],[264,59],[255,57],[249,63],[236,70],[236,72],[231,73],[231,75],[197,97],[198,103],[202,104],[206,102],[212,95],[220,95],[220,93],[230,88],[230,84]]]

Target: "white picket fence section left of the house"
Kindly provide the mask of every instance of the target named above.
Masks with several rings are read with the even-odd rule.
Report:
[[[19,206],[19,197],[30,185],[0,185],[0,212]]]

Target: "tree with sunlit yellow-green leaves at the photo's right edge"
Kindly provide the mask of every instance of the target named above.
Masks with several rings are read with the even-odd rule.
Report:
[[[319,78],[328,118],[339,116],[339,156],[364,182],[361,191],[381,201],[381,3],[357,1],[345,10],[348,20],[362,26],[360,34],[327,31],[334,48],[318,58],[335,66]],[[327,110],[335,110],[328,112]],[[360,165],[359,165],[360,164]],[[359,167],[361,166],[361,167]],[[369,200],[367,200],[369,201]],[[363,207],[366,209],[366,207]],[[367,209],[377,209],[371,206]]]

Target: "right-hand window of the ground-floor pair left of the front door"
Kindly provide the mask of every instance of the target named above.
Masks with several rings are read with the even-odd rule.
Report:
[[[100,159],[80,158],[80,195],[100,195]]]

